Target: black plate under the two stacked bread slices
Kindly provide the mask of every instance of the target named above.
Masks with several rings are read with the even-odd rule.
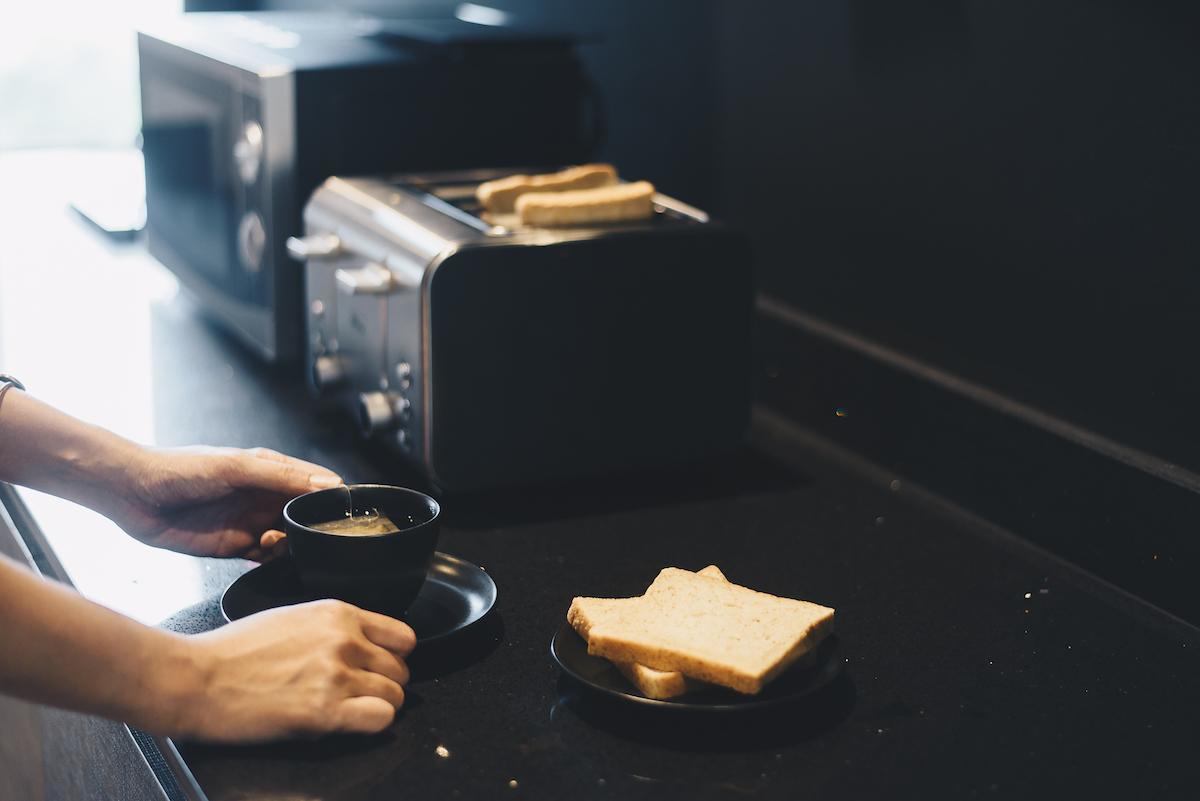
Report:
[[[706,687],[664,700],[641,694],[611,662],[589,655],[587,642],[575,633],[570,624],[564,622],[554,634],[550,654],[566,675],[605,695],[643,706],[700,712],[762,710],[798,701],[836,679],[846,662],[841,643],[832,634],[817,646],[817,656],[811,667],[787,670],[757,695],[743,695],[722,687]]]

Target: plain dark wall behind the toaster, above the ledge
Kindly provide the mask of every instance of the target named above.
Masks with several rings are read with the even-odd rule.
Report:
[[[1195,4],[490,5],[600,35],[600,156],[746,229],[764,293],[1200,469]]]

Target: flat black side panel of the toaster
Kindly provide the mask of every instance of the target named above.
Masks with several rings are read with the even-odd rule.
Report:
[[[737,445],[752,281],[722,229],[464,248],[428,287],[427,458],[448,490]]]

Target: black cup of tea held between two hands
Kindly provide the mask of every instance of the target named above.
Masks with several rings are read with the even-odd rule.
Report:
[[[283,530],[305,589],[364,609],[401,616],[425,584],[442,525],[442,507],[424,493],[384,484],[350,484],[355,511],[377,508],[398,529],[330,534],[312,528],[346,517],[346,489],[319,489],[288,501]]]

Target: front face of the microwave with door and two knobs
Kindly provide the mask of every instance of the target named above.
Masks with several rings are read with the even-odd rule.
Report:
[[[246,338],[274,349],[256,77],[145,35],[139,54],[150,252]]]

